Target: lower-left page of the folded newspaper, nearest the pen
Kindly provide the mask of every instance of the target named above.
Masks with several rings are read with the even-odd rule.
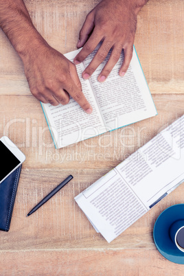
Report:
[[[93,183],[75,200],[108,242],[147,211],[115,170]]]

